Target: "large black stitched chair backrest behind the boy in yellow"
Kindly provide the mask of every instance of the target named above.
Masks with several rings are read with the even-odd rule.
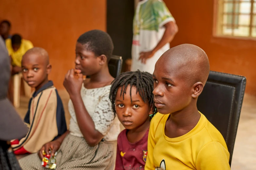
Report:
[[[223,135],[230,153],[235,144],[238,122],[245,93],[246,78],[210,71],[197,108]]]

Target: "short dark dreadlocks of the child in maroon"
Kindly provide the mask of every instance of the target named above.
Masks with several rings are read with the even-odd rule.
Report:
[[[121,87],[121,94],[120,96],[123,96],[126,94],[127,86],[130,85],[130,96],[131,96],[131,102],[132,102],[132,86],[136,87],[136,94],[137,92],[141,96],[142,100],[147,103],[150,108],[153,110],[153,114],[150,115],[150,118],[152,119],[153,116],[157,113],[157,109],[155,107],[154,103],[154,80],[152,78],[152,75],[148,72],[141,72],[139,70],[137,71],[130,71],[120,74],[115,80],[111,83],[111,89],[109,94],[109,99],[112,103],[112,110],[114,114],[116,115],[116,109],[115,109],[115,101],[117,96],[117,91],[119,87]]]

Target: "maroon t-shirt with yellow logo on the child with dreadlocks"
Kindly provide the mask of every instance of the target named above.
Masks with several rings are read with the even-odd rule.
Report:
[[[116,170],[144,170],[148,154],[148,130],[136,143],[128,141],[127,130],[123,130],[117,139]]]

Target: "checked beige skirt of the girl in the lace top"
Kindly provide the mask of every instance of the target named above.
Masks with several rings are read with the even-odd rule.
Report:
[[[91,147],[82,137],[68,134],[56,156],[56,170],[113,170],[117,142],[101,141]],[[37,153],[19,160],[23,170],[46,170]]]

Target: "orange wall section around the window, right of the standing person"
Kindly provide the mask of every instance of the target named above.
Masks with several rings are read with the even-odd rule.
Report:
[[[246,76],[246,92],[256,95],[256,41],[213,37],[213,0],[165,3],[179,27],[171,47],[184,43],[201,47],[211,70]]]

